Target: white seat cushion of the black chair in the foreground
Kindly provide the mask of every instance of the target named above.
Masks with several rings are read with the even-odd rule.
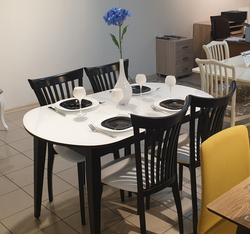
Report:
[[[135,155],[116,159],[102,167],[101,180],[112,187],[137,192]]]

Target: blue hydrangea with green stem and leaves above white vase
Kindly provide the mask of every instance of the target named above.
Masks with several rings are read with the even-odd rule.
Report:
[[[119,42],[116,40],[116,37],[110,33],[110,36],[118,47],[120,52],[120,58],[122,59],[122,41],[123,36],[127,32],[128,26],[124,27],[123,31],[121,32],[121,26],[123,22],[126,20],[127,16],[131,16],[129,10],[121,9],[121,8],[110,8],[110,10],[103,16],[105,23],[108,25],[115,25],[119,26]]]

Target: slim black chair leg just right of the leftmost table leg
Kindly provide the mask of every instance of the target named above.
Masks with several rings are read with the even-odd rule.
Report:
[[[48,193],[49,193],[49,201],[53,201],[53,165],[55,159],[55,150],[53,145],[47,143],[48,146],[48,171],[47,171],[47,182],[48,182]]]

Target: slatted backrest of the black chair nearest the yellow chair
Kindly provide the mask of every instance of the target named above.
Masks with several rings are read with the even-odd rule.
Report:
[[[236,82],[232,81],[230,91],[224,97],[203,98],[190,95],[189,150],[190,164],[194,167],[200,165],[200,144],[222,130],[225,111],[235,91]]]

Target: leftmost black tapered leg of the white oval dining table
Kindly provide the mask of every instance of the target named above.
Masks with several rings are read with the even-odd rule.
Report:
[[[34,216],[40,217],[46,142],[34,137]]]

